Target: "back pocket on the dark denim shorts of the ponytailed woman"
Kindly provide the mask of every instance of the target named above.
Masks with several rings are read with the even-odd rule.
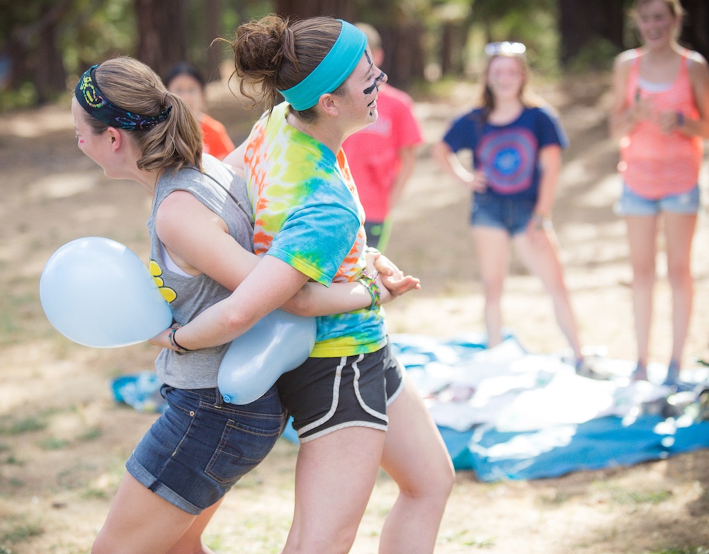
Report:
[[[229,419],[206,474],[222,484],[233,484],[266,458],[279,436],[280,424],[267,430]]]

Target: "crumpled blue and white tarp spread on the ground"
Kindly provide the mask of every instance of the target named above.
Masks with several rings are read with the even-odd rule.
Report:
[[[664,367],[648,367],[652,382],[633,382],[631,362],[595,355],[594,378],[582,377],[561,356],[528,353],[511,336],[491,349],[484,336],[391,340],[454,466],[480,481],[558,477],[709,447],[705,375],[675,393],[657,384]],[[112,384],[118,401],[142,411],[162,409],[159,387],[152,372]],[[290,425],[284,436],[298,441]]]

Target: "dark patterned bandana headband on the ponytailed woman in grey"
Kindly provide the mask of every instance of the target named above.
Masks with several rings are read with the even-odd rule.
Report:
[[[132,113],[111,104],[96,82],[96,67],[99,67],[99,65],[89,67],[84,72],[74,88],[74,96],[77,97],[77,101],[79,101],[82,108],[101,121],[101,123],[127,131],[147,131],[147,129],[155,127],[160,121],[167,119],[172,106],[162,110],[157,116],[141,116],[138,113]]]

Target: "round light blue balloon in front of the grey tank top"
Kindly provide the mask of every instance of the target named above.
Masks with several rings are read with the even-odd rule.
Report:
[[[110,238],[77,238],[52,254],[40,277],[40,301],[57,331],[95,348],[141,343],[172,323],[145,264]]]

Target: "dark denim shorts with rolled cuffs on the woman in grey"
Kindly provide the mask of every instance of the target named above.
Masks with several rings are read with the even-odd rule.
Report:
[[[217,502],[259,465],[284,429],[276,387],[251,404],[222,401],[217,389],[163,385],[168,407],[125,467],[152,492],[189,514]]]

